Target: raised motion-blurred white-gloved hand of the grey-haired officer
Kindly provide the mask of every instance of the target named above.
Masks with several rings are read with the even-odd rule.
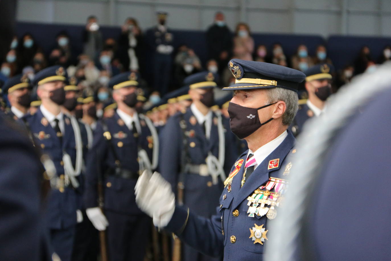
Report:
[[[157,227],[165,227],[175,210],[175,196],[171,185],[158,172],[145,170],[135,186],[138,207],[153,218]]]

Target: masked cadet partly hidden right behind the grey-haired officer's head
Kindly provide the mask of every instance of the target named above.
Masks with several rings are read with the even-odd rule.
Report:
[[[308,70],[305,75],[305,89],[308,93],[308,99],[305,104],[299,106],[289,129],[294,136],[300,134],[304,123],[312,118],[318,117],[326,107],[326,100],[332,94],[331,83],[334,73],[334,67],[330,64],[317,64]]]

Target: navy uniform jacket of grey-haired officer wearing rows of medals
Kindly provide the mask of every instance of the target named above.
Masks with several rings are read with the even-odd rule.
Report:
[[[224,188],[220,206],[212,218],[188,213],[186,208],[177,206],[165,229],[173,231],[184,242],[210,256],[224,254],[224,260],[262,260],[264,245],[254,243],[250,237],[250,229],[256,224],[263,225],[267,230],[269,221],[266,215],[249,217],[246,199],[265,184],[269,177],[283,178],[282,173],[288,164],[285,158],[289,153],[295,152],[292,150],[294,142],[295,139],[289,131],[280,146],[256,167],[243,187],[240,187],[245,167],[243,163],[233,178],[231,192],[228,192],[228,187]],[[247,153],[248,151],[240,155],[238,160],[243,159],[245,162]],[[278,167],[268,170],[269,161],[274,159],[280,159]],[[265,243],[267,244],[267,241]]]

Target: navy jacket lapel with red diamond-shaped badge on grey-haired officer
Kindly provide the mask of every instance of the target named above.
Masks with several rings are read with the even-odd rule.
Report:
[[[232,203],[233,208],[236,208],[243,200],[245,200],[249,196],[249,194],[253,193],[253,191],[258,189],[258,187],[260,187],[262,184],[267,182],[267,180],[269,180],[269,173],[273,171],[278,171],[280,169],[284,158],[288,155],[289,151],[293,148],[294,142],[295,139],[292,133],[289,131],[288,136],[283,140],[280,146],[274,149],[274,151],[270,153],[269,156],[267,156],[265,160],[258,165],[258,167],[256,167],[256,169],[248,178],[248,180],[246,180],[243,187],[239,190],[237,196],[233,199],[233,203]],[[275,159],[279,160],[278,166],[269,168],[269,162]],[[246,158],[244,160],[246,160]],[[244,164],[242,165],[242,167],[243,166]]]

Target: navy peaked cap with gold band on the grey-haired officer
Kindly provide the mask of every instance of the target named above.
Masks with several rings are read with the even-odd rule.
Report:
[[[273,63],[231,59],[228,68],[235,84],[222,90],[280,87],[297,92],[299,83],[305,79],[303,72]]]

